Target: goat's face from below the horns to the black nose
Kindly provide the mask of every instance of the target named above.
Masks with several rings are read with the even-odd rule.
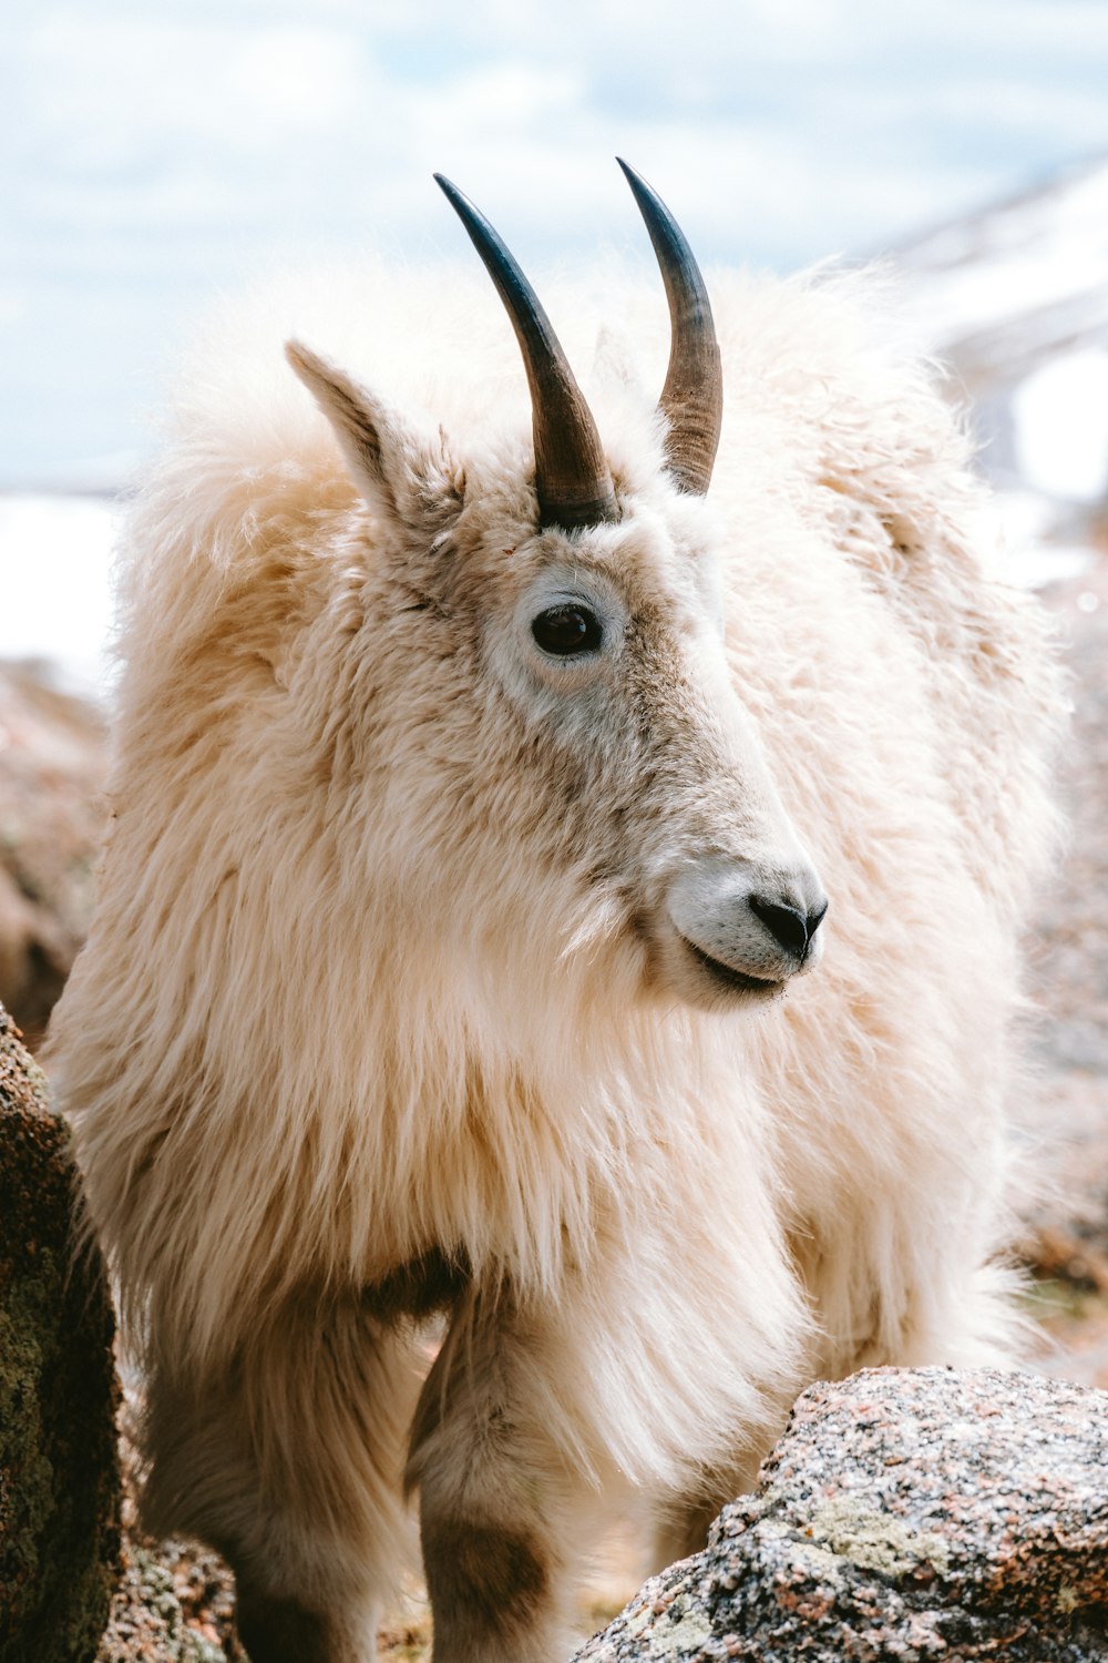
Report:
[[[826,900],[731,685],[698,506],[671,507],[676,535],[625,499],[618,526],[517,549],[482,652],[560,858],[618,898],[650,984],[718,1006],[811,968]]]

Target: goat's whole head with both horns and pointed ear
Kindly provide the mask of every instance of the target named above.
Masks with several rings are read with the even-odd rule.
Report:
[[[553,955],[718,1009],[811,968],[827,903],[728,672],[703,504],[723,417],[708,293],[621,166],[671,314],[653,477],[613,479],[532,286],[442,178],[523,353],[533,481],[530,457],[527,479],[472,467],[442,431],[287,354],[374,512],[352,642],[374,881],[444,955],[510,941],[517,973]]]

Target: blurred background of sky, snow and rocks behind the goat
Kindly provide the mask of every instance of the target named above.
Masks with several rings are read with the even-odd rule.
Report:
[[[1027,1256],[1057,1295],[1055,1329],[1095,1334],[1108,1312],[1108,5],[8,0],[3,35],[0,998],[28,1038],[93,895],[118,497],[194,319],[306,258],[457,259],[435,168],[532,274],[608,248],[650,261],[620,153],[706,266],[882,256],[899,269],[912,333],[970,407],[1010,577],[1060,619],[1075,835],[1035,930],[1048,1021],[1028,1113],[1050,1123],[1066,1199],[1028,1224]],[[1080,1367],[1108,1384],[1108,1325]]]

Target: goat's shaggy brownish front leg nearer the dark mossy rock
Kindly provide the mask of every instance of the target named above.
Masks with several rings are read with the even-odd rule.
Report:
[[[369,1663],[414,1530],[402,1502],[419,1375],[355,1299],[286,1307],[204,1387],[150,1380],[143,1517],[219,1548],[251,1663]]]

